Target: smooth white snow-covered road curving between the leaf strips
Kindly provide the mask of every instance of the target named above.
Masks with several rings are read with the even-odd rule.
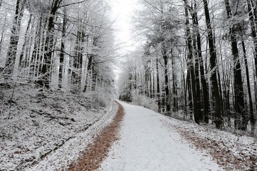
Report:
[[[112,145],[100,170],[222,170],[169,126],[174,121],[152,110],[120,103],[125,108],[120,140]]]

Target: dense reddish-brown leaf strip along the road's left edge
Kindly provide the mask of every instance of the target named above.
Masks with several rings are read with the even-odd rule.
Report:
[[[113,142],[119,139],[120,123],[124,116],[124,108],[118,103],[119,109],[110,125],[102,130],[95,141],[81,152],[77,161],[70,165],[70,171],[97,170],[105,160]]]

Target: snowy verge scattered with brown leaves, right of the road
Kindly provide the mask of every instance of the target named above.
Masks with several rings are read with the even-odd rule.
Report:
[[[257,140],[206,125],[176,120],[170,125],[200,150],[206,150],[225,170],[257,170]]]

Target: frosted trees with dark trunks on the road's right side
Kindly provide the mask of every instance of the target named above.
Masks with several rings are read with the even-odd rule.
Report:
[[[216,128],[254,130],[256,1],[142,0],[139,6],[132,23],[144,44],[128,54],[120,99]]]

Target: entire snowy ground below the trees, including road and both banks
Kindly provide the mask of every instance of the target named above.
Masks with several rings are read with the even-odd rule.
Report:
[[[17,86],[0,97],[3,171],[257,170],[257,140],[246,135],[120,102],[123,113],[94,94]]]

